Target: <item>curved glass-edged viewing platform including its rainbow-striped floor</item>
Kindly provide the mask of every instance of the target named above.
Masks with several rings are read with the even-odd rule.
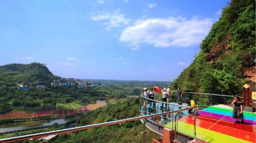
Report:
[[[143,97],[142,97],[143,98]],[[146,98],[147,99],[147,98]],[[230,98],[226,97],[226,100]],[[147,107],[143,107],[141,101],[141,116],[157,114],[168,111],[178,111],[186,108],[186,104],[167,103],[162,108],[162,102],[155,101],[150,106],[147,99]],[[229,102],[231,103],[231,102]],[[165,106],[165,105],[164,105]],[[243,112],[245,123],[234,123],[232,107],[225,104],[212,106],[200,106],[198,114],[188,114],[187,110],[174,114],[161,115],[142,120],[149,129],[162,135],[160,139],[152,142],[256,142],[256,114],[255,112]],[[194,110],[195,111],[195,110]]]

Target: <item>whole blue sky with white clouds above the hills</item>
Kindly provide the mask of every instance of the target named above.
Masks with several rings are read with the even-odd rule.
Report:
[[[0,1],[0,65],[80,79],[173,81],[227,0]]]

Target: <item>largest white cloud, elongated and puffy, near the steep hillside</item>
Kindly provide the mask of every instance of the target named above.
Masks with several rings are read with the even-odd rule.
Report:
[[[186,19],[181,17],[150,18],[138,20],[134,26],[126,27],[120,35],[120,41],[127,42],[132,50],[138,50],[141,44],[156,47],[199,44],[208,34],[212,19]]]

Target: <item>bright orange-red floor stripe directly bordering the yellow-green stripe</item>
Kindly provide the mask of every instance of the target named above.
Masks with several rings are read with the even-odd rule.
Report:
[[[187,116],[187,117],[180,118],[180,121],[184,122],[184,123],[194,125],[194,117],[193,116]],[[197,119],[197,121],[196,121],[196,126],[204,128],[204,129],[208,129],[212,125],[214,125],[214,123],[199,120],[199,119]],[[244,130],[240,130],[240,129],[236,129],[236,128],[231,128],[231,127],[227,127],[227,126],[223,126],[223,125],[219,125],[219,124],[216,124],[216,125],[212,126],[209,130],[216,131],[216,132],[219,132],[219,133],[222,133],[222,134],[237,137],[237,138],[247,140],[247,141],[251,141],[251,142],[254,142],[255,139],[256,139],[255,138],[256,134],[253,133],[253,132],[248,132],[248,131],[244,131]]]

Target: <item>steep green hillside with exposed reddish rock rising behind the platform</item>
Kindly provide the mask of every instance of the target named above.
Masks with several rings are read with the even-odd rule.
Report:
[[[200,48],[193,63],[172,83],[173,89],[234,94],[246,82],[255,86],[243,75],[244,68],[255,66],[255,1],[231,1]]]

